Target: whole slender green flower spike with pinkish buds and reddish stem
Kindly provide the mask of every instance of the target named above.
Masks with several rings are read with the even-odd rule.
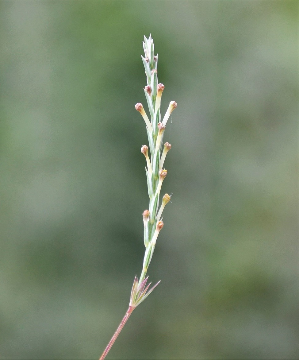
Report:
[[[146,112],[141,103],[135,105],[135,109],[140,112],[142,115],[145,125],[146,132],[148,134],[149,147],[143,145],[141,147],[141,153],[144,154],[146,159],[146,180],[148,183],[148,194],[149,194],[149,210],[145,210],[142,214],[143,224],[144,224],[144,246],[145,254],[143,259],[143,266],[140,278],[138,280],[135,276],[129,308],[124,316],[123,320],[119,324],[116,332],[114,333],[112,339],[107,345],[105,351],[103,352],[100,360],[105,359],[108,351],[112,347],[114,341],[121,332],[124,324],[127,322],[132,311],[144,301],[149,294],[154,290],[154,288],[160,283],[160,281],[155,284],[150,290],[149,287],[151,283],[146,285],[148,277],[146,273],[148,267],[153,257],[153,253],[156,246],[156,241],[159,235],[160,230],[163,228],[162,221],[162,212],[165,205],[170,201],[170,195],[165,194],[162,198],[162,203],[159,207],[159,198],[163,180],[167,175],[167,170],[163,168],[166,154],[171,149],[171,144],[163,143],[163,136],[166,127],[166,123],[172,111],[177,107],[175,101],[169,103],[168,109],[165,116],[161,122],[160,114],[160,104],[161,97],[164,90],[164,85],[158,83],[158,54],[154,55],[154,42],[151,38],[151,35],[148,39],[144,37],[143,42],[144,57],[141,55],[142,62],[145,68],[146,82],[147,85],[144,88],[144,93],[146,101],[148,103],[149,113],[151,121],[149,120]],[[149,151],[150,150],[150,151]],[[149,157],[150,152],[150,157]]]

